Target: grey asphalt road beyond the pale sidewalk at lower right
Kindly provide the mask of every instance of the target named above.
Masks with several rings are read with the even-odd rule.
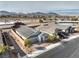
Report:
[[[51,49],[39,56],[39,58],[79,58],[79,38],[69,42],[62,42],[62,45]]]

